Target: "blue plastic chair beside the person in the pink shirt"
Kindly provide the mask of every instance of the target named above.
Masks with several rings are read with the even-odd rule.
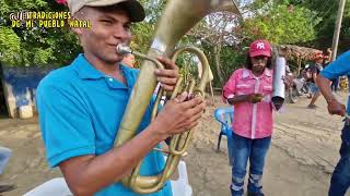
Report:
[[[217,151],[220,151],[220,144],[222,135],[228,137],[228,154],[230,166],[232,166],[232,122],[233,122],[233,107],[218,108],[214,111],[215,120],[221,123],[221,131],[218,138]]]

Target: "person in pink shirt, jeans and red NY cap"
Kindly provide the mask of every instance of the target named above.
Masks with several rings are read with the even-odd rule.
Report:
[[[244,193],[248,160],[248,196],[264,196],[261,177],[273,124],[272,76],[270,44],[259,39],[249,47],[246,66],[236,70],[223,87],[224,101],[234,106],[232,196]]]

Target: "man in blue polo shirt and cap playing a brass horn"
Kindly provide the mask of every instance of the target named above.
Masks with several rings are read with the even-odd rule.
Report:
[[[186,93],[170,100],[150,123],[149,106],[137,136],[115,148],[122,114],[139,72],[120,64],[118,44],[131,39],[130,23],[144,19],[136,0],[68,0],[71,15],[89,20],[91,28],[73,28],[84,52],[68,66],[52,71],[39,84],[37,108],[50,167],[59,167],[74,195],[138,195],[120,180],[144,158],[141,174],[159,173],[164,158],[153,149],[173,134],[198,123],[205,103]],[[176,84],[174,62],[159,58],[167,70],[155,76],[165,90]],[[167,183],[152,196],[170,196]]]

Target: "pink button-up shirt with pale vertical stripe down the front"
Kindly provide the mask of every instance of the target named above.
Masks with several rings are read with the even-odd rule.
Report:
[[[223,99],[237,95],[262,94],[258,103],[240,102],[234,106],[232,128],[234,133],[247,138],[264,138],[272,135],[272,74],[265,69],[256,77],[250,70],[236,70],[223,87]]]

